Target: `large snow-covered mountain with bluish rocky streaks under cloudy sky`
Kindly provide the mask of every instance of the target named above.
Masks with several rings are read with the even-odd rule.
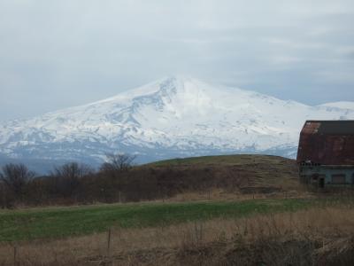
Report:
[[[0,125],[0,160],[97,164],[117,152],[138,153],[141,161],[216,153],[293,157],[305,120],[354,119],[348,106],[354,105],[306,106],[167,77],[89,105],[6,122]]]

